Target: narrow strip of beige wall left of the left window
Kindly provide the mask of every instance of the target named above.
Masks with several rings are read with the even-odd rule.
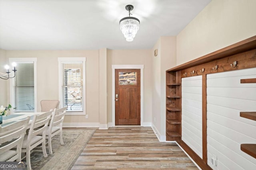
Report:
[[[0,49],[0,72],[4,73],[6,70],[4,70],[4,65],[8,64],[9,62],[6,61],[6,51]],[[7,92],[6,92],[6,86],[7,82],[10,80],[3,80],[0,78],[0,106],[7,106],[9,102],[6,100],[7,98]]]

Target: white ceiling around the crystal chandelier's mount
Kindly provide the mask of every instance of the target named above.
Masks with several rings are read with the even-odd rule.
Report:
[[[0,0],[0,49],[150,49],[177,35],[210,0]],[[127,42],[119,20],[140,20]]]

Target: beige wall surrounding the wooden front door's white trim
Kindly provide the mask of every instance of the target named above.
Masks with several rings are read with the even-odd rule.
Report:
[[[152,60],[151,50],[107,50],[107,109],[112,123],[112,64],[144,64],[144,122],[152,117]]]

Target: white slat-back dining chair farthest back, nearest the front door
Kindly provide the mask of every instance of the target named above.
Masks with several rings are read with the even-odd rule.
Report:
[[[46,139],[48,139],[48,148],[50,154],[52,154],[52,137],[55,135],[60,134],[60,144],[64,145],[62,138],[62,123],[66,114],[66,110],[67,107],[63,107],[60,109],[54,109],[52,112],[50,126],[47,127],[46,131]]]

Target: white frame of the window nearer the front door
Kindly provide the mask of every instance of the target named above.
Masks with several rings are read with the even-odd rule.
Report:
[[[58,57],[58,78],[59,78],[59,101],[60,108],[63,107],[62,98],[62,62],[74,63],[76,61],[83,63],[83,111],[67,111],[66,115],[86,115],[86,57]]]

